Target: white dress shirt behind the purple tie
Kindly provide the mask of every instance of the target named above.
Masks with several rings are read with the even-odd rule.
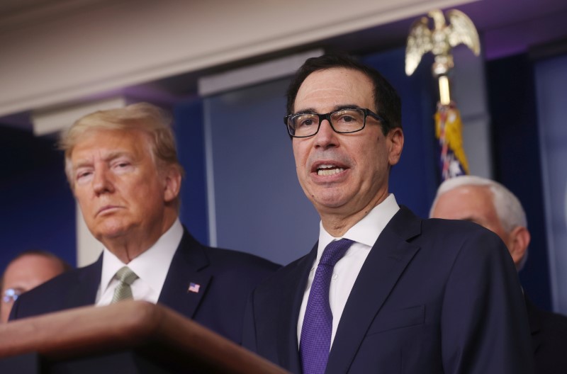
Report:
[[[376,205],[366,217],[357,222],[356,225],[351,227],[341,238],[332,237],[322,226],[319,225],[319,245],[317,249],[317,259],[311,267],[309,279],[305,286],[305,293],[303,294],[303,302],[299,310],[299,319],[297,322],[297,341],[301,341],[301,328],[303,327],[303,317],[305,317],[305,308],[307,307],[307,300],[311,290],[311,283],[315,277],[315,270],[319,265],[322,253],[327,244],[333,240],[342,238],[350,239],[354,243],[340,259],[335,268],[333,269],[331,284],[329,289],[329,302],[332,312],[332,332],[331,332],[331,345],[337,333],[337,327],[341,319],[344,305],[347,304],[350,291],[354,285],[354,281],[359,276],[360,269],[366,260],[366,256],[370,253],[370,249],[376,243],[376,239],[381,234],[382,230],[388,222],[392,219],[396,212],[400,210],[395,197],[391,193],[383,200],[382,203]]]

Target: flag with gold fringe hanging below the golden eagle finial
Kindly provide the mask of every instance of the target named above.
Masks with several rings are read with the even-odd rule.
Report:
[[[439,140],[442,181],[468,174],[468,162],[463,148],[463,123],[459,110],[452,101],[449,105],[438,103],[434,117],[435,137]]]

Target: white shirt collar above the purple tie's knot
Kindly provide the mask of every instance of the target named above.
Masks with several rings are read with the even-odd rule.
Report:
[[[353,227],[344,233],[342,238],[351,239],[353,242],[361,243],[370,248],[374,246],[378,236],[388,222],[392,219],[396,212],[400,210],[393,193],[390,193],[386,199],[376,205],[372,210],[359,220]],[[319,224],[319,245],[317,258],[320,259],[322,251],[327,244],[336,239],[323,228],[322,222]]]

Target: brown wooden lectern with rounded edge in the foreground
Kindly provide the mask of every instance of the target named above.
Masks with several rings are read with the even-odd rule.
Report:
[[[81,307],[0,324],[0,373],[287,373],[163,305]]]

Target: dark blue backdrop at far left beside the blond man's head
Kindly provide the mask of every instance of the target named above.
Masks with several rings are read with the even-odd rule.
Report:
[[[0,127],[0,271],[21,251],[77,261],[75,204],[50,137]]]

